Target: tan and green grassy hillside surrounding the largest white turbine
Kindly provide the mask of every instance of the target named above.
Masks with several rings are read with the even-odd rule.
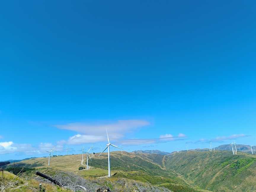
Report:
[[[150,158],[149,158],[150,156]],[[158,186],[159,188],[168,188],[169,191],[175,192],[199,192],[191,187],[182,177],[167,170],[162,165],[163,155],[149,155],[149,154],[135,154],[124,152],[111,153],[111,173],[116,173],[111,179],[103,178],[108,182],[112,180],[125,179],[125,181],[133,180],[139,183],[148,183],[147,185]],[[83,163],[85,166],[86,161]],[[78,170],[81,166],[81,155],[57,156],[50,160],[48,167],[47,158],[29,159],[18,162],[16,166],[25,166],[28,168],[36,168],[45,172],[45,169],[63,170],[73,172],[89,180],[96,180],[100,182],[98,177],[107,175],[107,154],[102,156],[92,156],[92,161],[89,161],[89,170]],[[8,165],[7,167],[11,167]],[[112,185],[112,184],[111,184]]]

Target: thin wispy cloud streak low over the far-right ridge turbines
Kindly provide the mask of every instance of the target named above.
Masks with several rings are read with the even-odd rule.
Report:
[[[245,134],[234,134],[230,136],[221,136],[221,137],[216,137],[213,139],[199,139],[195,142],[190,141],[187,143],[195,143],[195,144],[201,144],[201,143],[223,143],[225,140],[236,140],[241,137],[249,137],[250,135],[245,135]]]

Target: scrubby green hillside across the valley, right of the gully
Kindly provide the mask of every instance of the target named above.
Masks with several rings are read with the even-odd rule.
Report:
[[[256,156],[189,151],[165,157],[165,167],[211,191],[256,191]]]

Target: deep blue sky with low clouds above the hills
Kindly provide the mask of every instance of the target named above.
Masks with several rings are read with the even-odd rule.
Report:
[[[255,145],[254,1],[0,6],[0,160]]]

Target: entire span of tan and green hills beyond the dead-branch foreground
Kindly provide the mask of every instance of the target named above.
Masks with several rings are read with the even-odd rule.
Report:
[[[83,162],[85,167],[86,162]],[[6,167],[11,167],[12,164]],[[72,172],[96,183],[106,182],[113,185],[118,180],[124,183],[168,188],[175,192],[239,192],[256,190],[256,156],[230,151],[182,151],[167,155],[150,153],[111,152],[111,178],[107,175],[107,153],[92,156],[89,170],[81,170],[81,155],[57,156],[51,159],[48,167],[47,158],[20,161],[16,166],[34,168],[43,172],[62,170]],[[33,174],[32,174],[33,175]],[[134,185],[134,184],[133,184]],[[112,188],[114,191],[115,188]]]

